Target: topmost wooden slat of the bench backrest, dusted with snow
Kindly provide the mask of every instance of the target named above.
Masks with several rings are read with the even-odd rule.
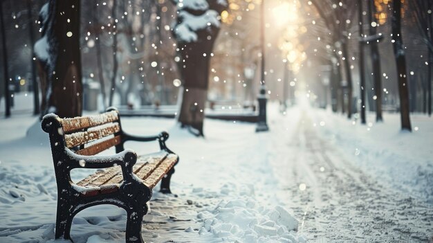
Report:
[[[84,116],[75,118],[64,118],[61,120],[64,132],[73,132],[80,129],[94,127],[105,123],[112,123],[119,120],[117,111],[109,111],[95,116]]]

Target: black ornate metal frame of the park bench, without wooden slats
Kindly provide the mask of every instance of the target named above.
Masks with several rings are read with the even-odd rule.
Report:
[[[110,107],[107,111],[118,110]],[[142,180],[133,174],[133,165],[137,161],[137,154],[133,150],[125,150],[126,141],[158,141],[160,150],[174,154],[165,145],[169,137],[167,132],[161,132],[157,136],[133,136],[122,131],[120,116],[118,115],[120,131],[114,136],[120,136],[121,141],[116,145],[116,153],[111,156],[84,156],[66,147],[62,119],[55,114],[48,114],[42,120],[42,129],[50,136],[51,152],[57,181],[57,217],[55,238],[71,240],[71,224],[73,217],[85,208],[100,204],[112,204],[123,208],[127,212],[126,242],[141,242],[142,217],[147,214],[147,201],[151,199],[152,188],[148,188]],[[85,161],[85,163],[83,163]],[[174,165],[176,165],[178,161]],[[104,193],[82,197],[89,188],[74,186],[71,180],[71,170],[75,168],[102,169],[120,165],[123,181],[115,190],[104,190]],[[160,183],[160,191],[171,193],[170,179],[174,173],[174,166],[165,174]]]

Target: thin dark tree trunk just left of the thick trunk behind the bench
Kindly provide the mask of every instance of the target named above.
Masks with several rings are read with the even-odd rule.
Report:
[[[27,11],[28,11],[28,30],[29,30],[29,36],[30,36],[30,49],[32,52],[32,59],[30,62],[32,62],[32,86],[33,86],[33,115],[39,114],[40,111],[40,105],[39,105],[39,87],[36,80],[36,63],[35,63],[35,34],[33,31],[33,15],[32,15],[32,4],[31,0],[27,0]]]

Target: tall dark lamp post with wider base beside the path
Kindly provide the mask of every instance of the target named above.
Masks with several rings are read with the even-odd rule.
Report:
[[[265,87],[265,1],[261,1],[260,8],[260,48],[261,48],[261,77],[260,77],[260,91],[257,96],[259,102],[259,117],[257,119],[256,132],[266,132],[269,130],[266,123],[266,87]]]

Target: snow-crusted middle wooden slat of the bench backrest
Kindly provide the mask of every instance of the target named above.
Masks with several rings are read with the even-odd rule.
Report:
[[[116,132],[120,132],[119,123],[108,123],[106,125],[101,125],[100,127],[91,127],[86,132],[66,134],[64,138],[66,141],[66,146],[71,148],[104,138],[105,136],[115,134]]]

